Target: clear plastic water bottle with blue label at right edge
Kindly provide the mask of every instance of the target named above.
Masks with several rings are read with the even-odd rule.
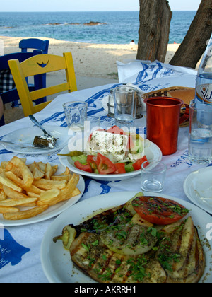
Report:
[[[196,77],[196,103],[212,105],[212,35]]]

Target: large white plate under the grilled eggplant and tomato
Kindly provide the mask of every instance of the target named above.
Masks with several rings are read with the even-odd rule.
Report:
[[[70,209],[64,211],[63,214],[54,220],[49,229],[45,233],[42,240],[40,257],[42,262],[42,268],[47,276],[50,283],[93,283],[93,279],[89,276],[80,272],[71,262],[69,251],[65,250],[61,240],[54,243],[52,238],[60,235],[62,229],[73,223],[75,225],[81,223],[90,217],[94,211],[102,209],[110,209],[114,206],[119,206],[124,204],[129,199],[134,197],[136,192],[116,192],[111,194],[104,194],[90,199],[83,200],[73,205]],[[155,196],[155,193],[146,192],[149,196]],[[194,221],[195,226],[198,228],[199,237],[204,244],[204,252],[206,255],[206,269],[204,276],[202,276],[201,281],[212,282],[211,275],[211,257],[212,257],[212,240],[206,240],[206,226],[211,223],[212,219],[209,214],[206,214],[203,210],[199,209],[189,202],[184,202],[182,199],[177,199],[167,195],[160,194],[160,197],[167,199],[172,199],[179,204],[184,205],[190,210],[190,215]],[[207,243],[207,244],[206,244]]]

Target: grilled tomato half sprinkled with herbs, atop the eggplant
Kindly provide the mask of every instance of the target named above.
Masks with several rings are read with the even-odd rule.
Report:
[[[181,204],[161,197],[136,197],[132,206],[141,218],[156,225],[175,223],[189,212]]]

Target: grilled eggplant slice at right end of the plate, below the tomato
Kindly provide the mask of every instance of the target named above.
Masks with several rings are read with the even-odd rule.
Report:
[[[167,282],[196,283],[205,267],[204,250],[198,232],[191,216],[178,227],[176,225],[163,229],[167,239],[160,244],[158,259],[167,273]]]

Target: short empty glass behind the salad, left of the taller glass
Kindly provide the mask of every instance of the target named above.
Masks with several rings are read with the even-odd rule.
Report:
[[[66,123],[69,129],[83,131],[84,121],[87,116],[88,103],[83,101],[71,101],[63,104]]]

